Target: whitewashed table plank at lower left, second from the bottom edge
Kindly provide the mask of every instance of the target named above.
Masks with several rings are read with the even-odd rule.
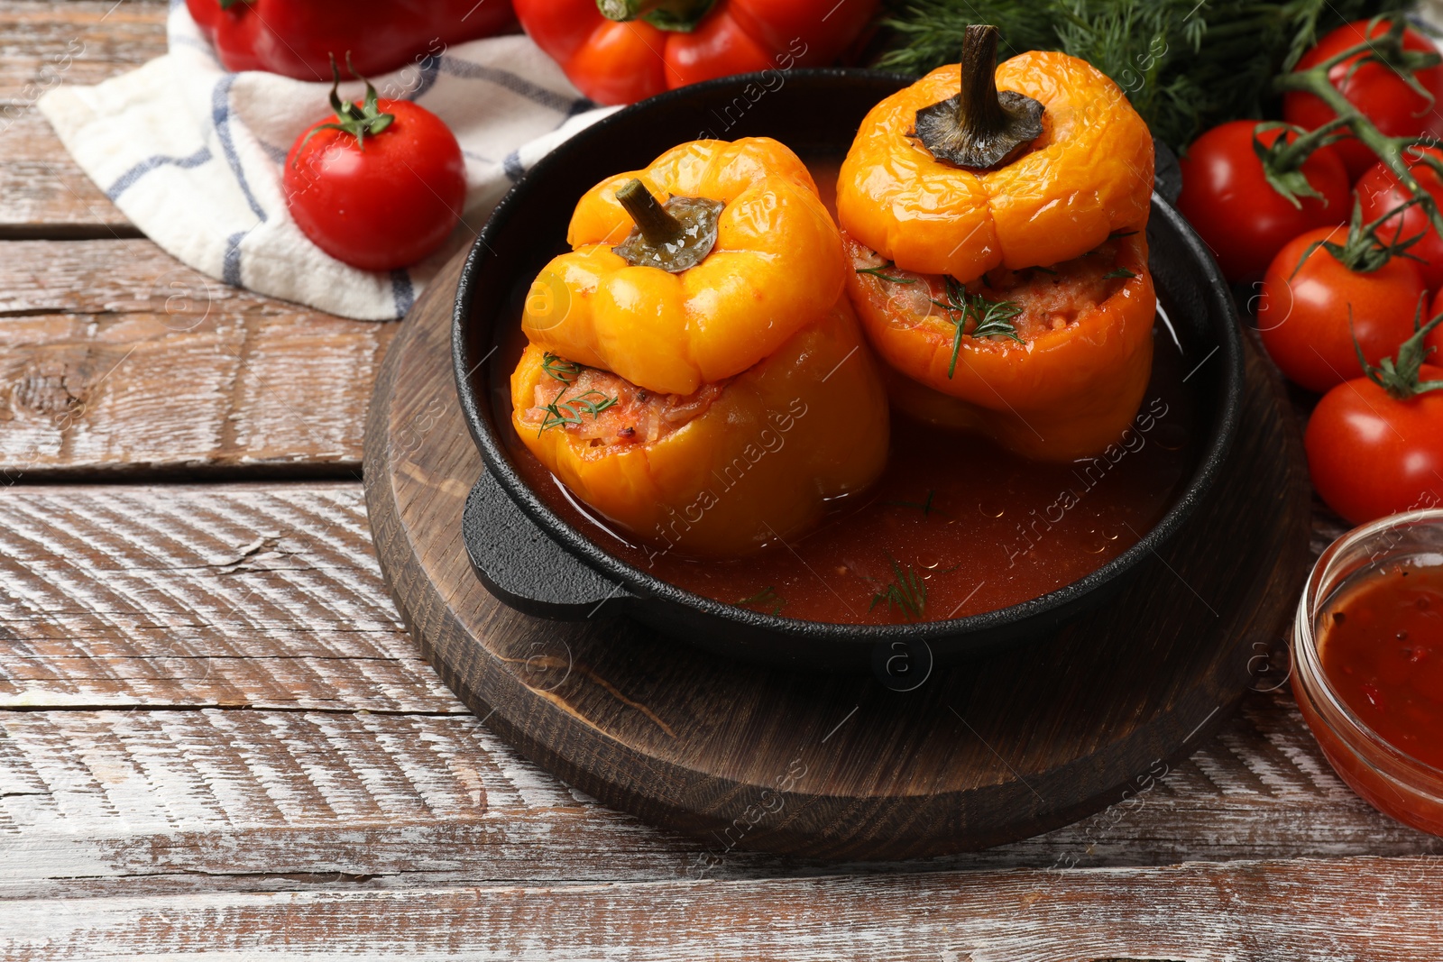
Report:
[[[672,878],[696,848],[469,717],[0,712],[0,897]]]

